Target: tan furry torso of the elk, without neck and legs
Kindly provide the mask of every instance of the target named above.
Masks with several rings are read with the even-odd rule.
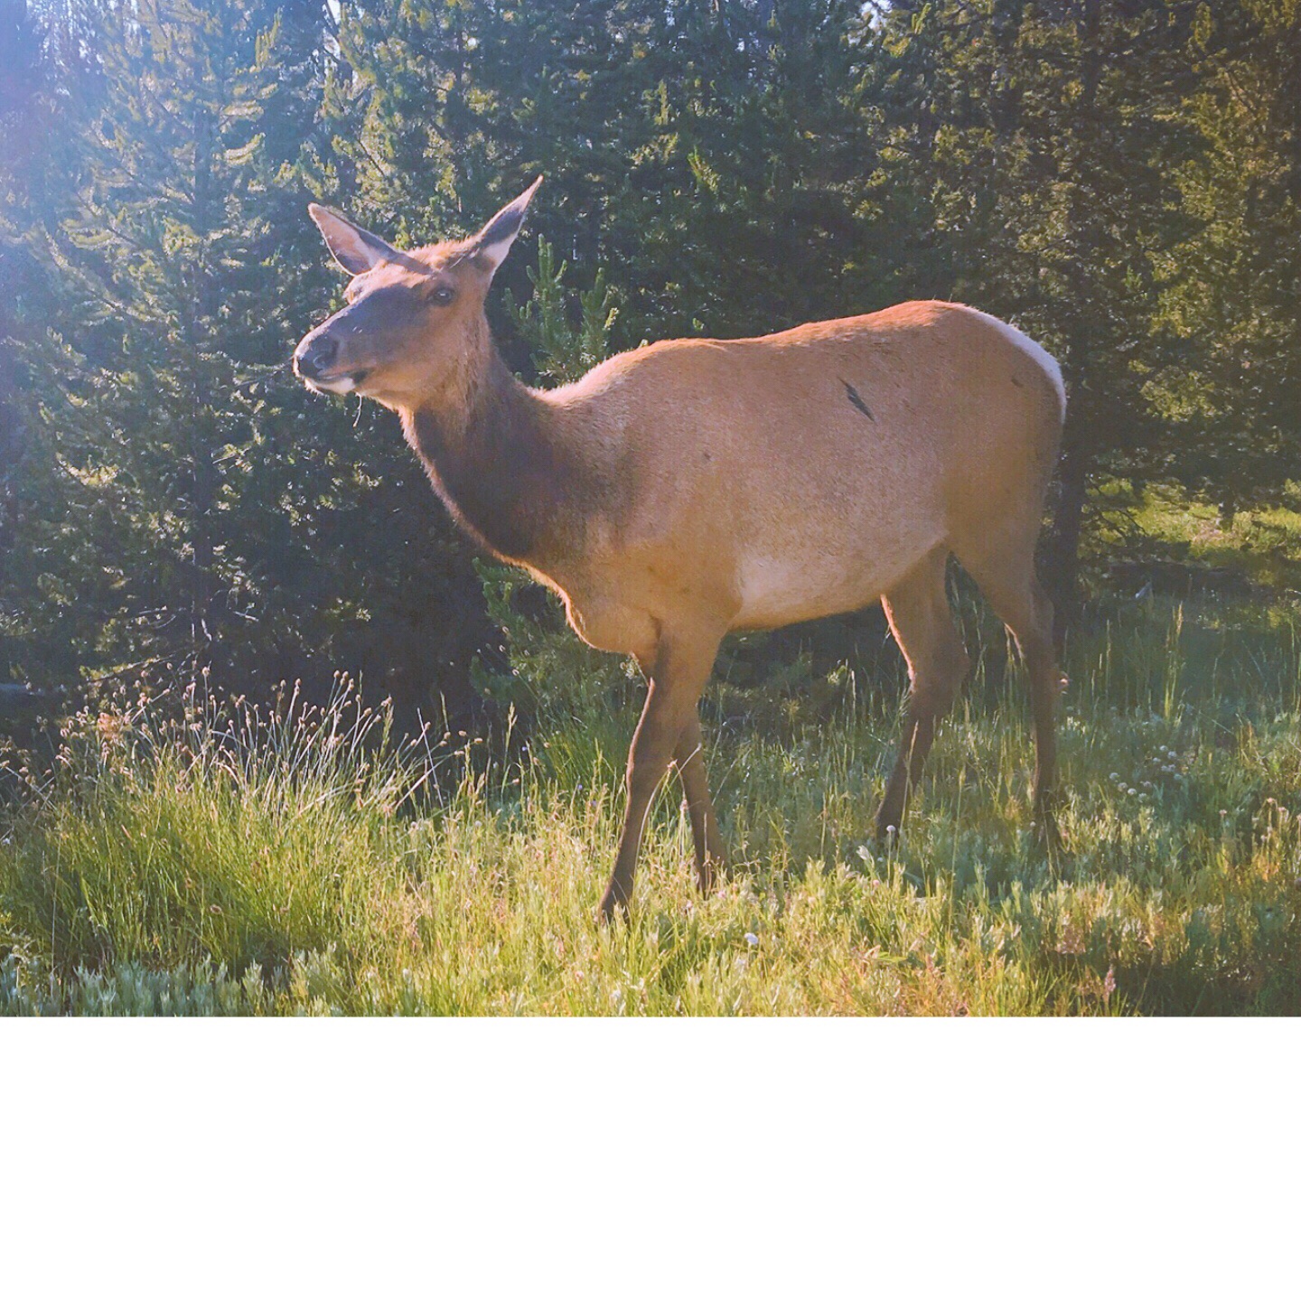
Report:
[[[1042,368],[951,303],[657,343],[532,398],[636,484],[540,576],[584,640],[639,657],[683,608],[782,627],[876,601],[945,543],[1033,545],[1060,429]]]

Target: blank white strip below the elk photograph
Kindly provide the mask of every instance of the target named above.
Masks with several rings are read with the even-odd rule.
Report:
[[[1294,1023],[8,1023],[7,1292],[1262,1294]]]

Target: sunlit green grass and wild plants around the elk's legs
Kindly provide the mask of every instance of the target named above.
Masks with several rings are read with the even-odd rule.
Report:
[[[637,699],[617,666],[550,683],[509,764],[394,744],[346,683],[320,710],[200,691],[172,723],[82,718],[0,844],[0,1010],[1297,1012],[1298,618],[1129,602],[1077,639],[1053,863],[1028,830],[1024,683],[986,617],[889,852],[869,831],[892,687],[846,666],[769,701],[769,726],[718,683],[732,869],[697,896],[666,788],[609,928]]]

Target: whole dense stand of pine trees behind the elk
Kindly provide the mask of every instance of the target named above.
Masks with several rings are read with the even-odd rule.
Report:
[[[304,208],[425,241],[539,173],[490,310],[543,382],[919,297],[1039,340],[1068,615],[1101,488],[1296,492],[1301,0],[0,0],[0,692],[468,718],[471,550],[285,364],[341,289]]]

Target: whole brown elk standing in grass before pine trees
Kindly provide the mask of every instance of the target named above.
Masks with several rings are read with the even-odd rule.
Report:
[[[311,204],[354,278],[294,367],[317,392],[397,411],[459,524],[553,588],[584,641],[636,657],[648,690],[602,916],[631,899],[670,765],[703,890],[723,863],[697,701],[734,630],[883,601],[909,697],[877,834],[900,826],[969,666],[950,554],[1020,648],[1036,820],[1055,837],[1060,679],[1034,546],[1066,415],[1058,363],[974,308],[909,302],[761,338],[658,342],[575,384],[528,388],[502,362],[484,299],[540,182],[471,238],[411,251]]]

